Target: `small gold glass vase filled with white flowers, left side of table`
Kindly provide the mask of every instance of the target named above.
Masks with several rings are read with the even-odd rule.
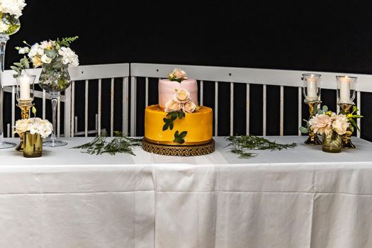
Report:
[[[52,123],[34,117],[17,120],[14,128],[14,133],[23,135],[23,156],[41,157],[43,154],[43,138],[52,133]]]

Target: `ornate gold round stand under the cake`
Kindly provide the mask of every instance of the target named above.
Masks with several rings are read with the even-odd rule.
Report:
[[[201,156],[215,151],[215,140],[204,145],[159,145],[142,139],[142,148],[146,152],[167,156]]]

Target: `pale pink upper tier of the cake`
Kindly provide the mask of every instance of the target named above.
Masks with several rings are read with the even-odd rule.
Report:
[[[190,92],[191,100],[198,105],[198,84],[195,79],[184,79],[170,81],[169,79],[159,79],[159,106],[165,108],[165,103],[171,100],[176,92],[174,89],[184,89]]]

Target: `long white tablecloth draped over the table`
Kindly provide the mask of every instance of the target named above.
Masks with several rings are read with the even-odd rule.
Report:
[[[0,247],[372,247],[372,143],[202,157],[101,156],[69,138],[26,159],[0,150]],[[13,139],[18,142],[18,139]]]

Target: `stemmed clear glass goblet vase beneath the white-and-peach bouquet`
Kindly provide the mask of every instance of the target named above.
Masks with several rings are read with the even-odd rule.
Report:
[[[67,142],[57,140],[55,135],[56,130],[56,110],[57,101],[61,95],[61,91],[64,91],[71,84],[69,77],[68,66],[63,64],[43,64],[39,77],[39,85],[42,89],[49,92],[50,99],[52,101],[52,125],[53,131],[49,140],[46,140],[43,145],[46,147],[60,147],[67,145]]]

